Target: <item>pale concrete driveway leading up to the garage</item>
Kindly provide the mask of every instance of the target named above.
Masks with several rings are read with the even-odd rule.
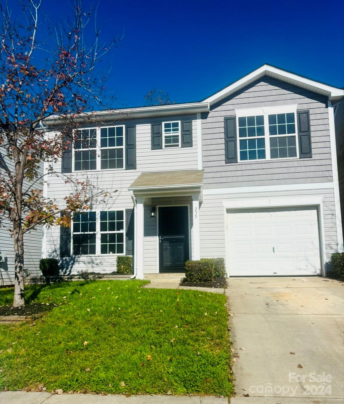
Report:
[[[344,402],[344,284],[320,277],[229,284],[239,355],[231,404]]]

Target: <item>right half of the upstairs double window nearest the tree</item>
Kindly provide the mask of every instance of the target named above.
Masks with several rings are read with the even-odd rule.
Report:
[[[123,126],[101,128],[101,170],[123,168]]]

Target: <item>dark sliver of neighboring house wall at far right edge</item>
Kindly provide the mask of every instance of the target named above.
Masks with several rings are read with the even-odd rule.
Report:
[[[342,212],[342,223],[344,220],[344,101],[341,101],[334,114],[334,124],[336,128],[336,148],[338,164],[338,180],[340,194],[340,208]]]

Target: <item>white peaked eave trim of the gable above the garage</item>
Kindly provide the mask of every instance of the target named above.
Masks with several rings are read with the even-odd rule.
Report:
[[[250,72],[249,74],[239,78],[239,80],[229,84],[229,86],[226,86],[222,88],[222,90],[210,95],[210,97],[203,99],[201,102],[208,102],[210,105],[217,103],[218,101],[229,97],[229,95],[239,91],[241,88],[253,83],[263,76],[270,76],[278,80],[294,84],[295,86],[305,88],[306,90],[313,91],[313,93],[325,95],[330,101],[333,101],[333,103],[340,101],[340,99],[342,99],[344,96],[344,90],[342,88],[330,86],[329,84],[312,80],[310,78],[301,76],[300,74],[295,74],[287,70],[280,69],[279,67],[264,64],[258,67],[258,69],[253,70],[253,72]]]

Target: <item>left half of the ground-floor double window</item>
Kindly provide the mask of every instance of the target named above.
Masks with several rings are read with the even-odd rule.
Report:
[[[96,253],[96,213],[74,213],[73,254],[89,255]]]

